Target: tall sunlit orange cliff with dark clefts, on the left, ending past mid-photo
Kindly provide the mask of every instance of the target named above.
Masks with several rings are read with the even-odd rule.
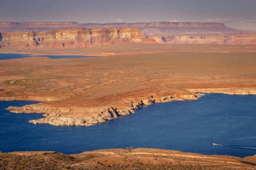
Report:
[[[83,48],[128,40],[140,42],[145,40],[145,37],[138,28],[75,28],[49,30],[44,33],[38,31],[0,32],[0,47],[19,49]]]

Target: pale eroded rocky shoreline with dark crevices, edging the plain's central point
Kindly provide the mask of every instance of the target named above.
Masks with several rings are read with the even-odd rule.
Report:
[[[105,107],[55,107],[38,103],[33,105],[25,105],[23,107],[10,106],[7,110],[12,113],[44,113],[45,118],[38,120],[30,120],[34,124],[50,124],[50,125],[76,125],[76,126],[91,126],[97,123],[106,122],[111,119],[116,119],[120,115],[129,115],[135,113],[138,108],[144,105],[152,105],[154,103],[171,102],[175,100],[198,99],[200,94],[188,95],[170,95],[156,96],[150,95],[146,98],[135,99],[131,101],[125,108],[116,108],[113,106]]]

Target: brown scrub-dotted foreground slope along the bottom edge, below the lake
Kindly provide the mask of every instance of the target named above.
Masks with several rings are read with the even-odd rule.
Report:
[[[255,170],[255,160],[255,156],[242,159],[147,148],[95,150],[73,155],[49,151],[0,152],[0,167],[3,169]]]

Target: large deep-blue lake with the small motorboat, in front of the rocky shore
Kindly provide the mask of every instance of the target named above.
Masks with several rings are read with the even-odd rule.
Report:
[[[29,120],[42,114],[5,110],[32,103],[36,102],[0,102],[0,151],[71,154],[132,146],[239,157],[256,154],[256,95],[206,94],[193,101],[159,103],[90,127],[34,125]]]

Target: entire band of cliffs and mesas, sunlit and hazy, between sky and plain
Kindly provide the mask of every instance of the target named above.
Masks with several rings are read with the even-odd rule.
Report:
[[[87,48],[125,41],[159,44],[256,44],[256,31],[228,28],[223,23],[199,22],[0,23],[1,49]]]

